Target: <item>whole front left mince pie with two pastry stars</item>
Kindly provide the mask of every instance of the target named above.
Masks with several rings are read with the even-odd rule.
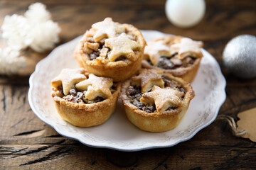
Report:
[[[120,83],[85,69],[63,69],[51,81],[52,97],[63,120],[79,127],[104,123],[114,112]]]

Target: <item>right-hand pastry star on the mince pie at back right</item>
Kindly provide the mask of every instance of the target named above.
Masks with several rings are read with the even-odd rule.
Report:
[[[190,38],[181,38],[179,43],[171,45],[171,52],[178,52],[178,59],[183,60],[185,57],[203,57],[200,48],[203,47],[203,42],[194,41]]]

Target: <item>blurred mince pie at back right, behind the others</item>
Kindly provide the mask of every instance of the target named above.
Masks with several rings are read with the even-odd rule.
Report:
[[[191,82],[198,71],[203,42],[167,35],[151,40],[144,50],[142,67],[159,69]]]

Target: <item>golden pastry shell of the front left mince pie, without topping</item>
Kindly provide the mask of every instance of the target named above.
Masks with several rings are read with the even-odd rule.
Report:
[[[78,127],[90,127],[105,123],[110,118],[116,108],[120,88],[121,83],[118,83],[117,90],[114,91],[110,98],[92,104],[66,101],[57,95],[55,88],[52,89],[51,96],[53,97],[55,108],[57,108],[63,120]]]

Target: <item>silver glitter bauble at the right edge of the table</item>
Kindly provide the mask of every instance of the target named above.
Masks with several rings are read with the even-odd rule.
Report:
[[[241,78],[256,77],[256,36],[239,35],[223,51],[225,67]]]

